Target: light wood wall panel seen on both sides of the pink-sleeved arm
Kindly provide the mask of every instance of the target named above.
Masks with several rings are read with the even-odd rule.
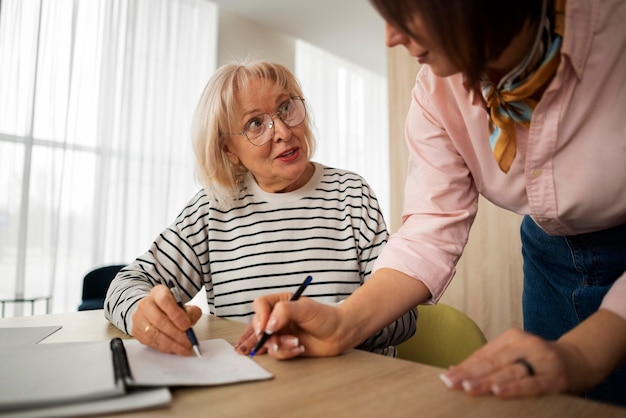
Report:
[[[404,122],[418,65],[404,48],[388,51],[391,230],[400,226],[407,147]],[[511,326],[522,326],[521,216],[481,197],[469,242],[457,273],[441,301],[476,321],[488,339]]]

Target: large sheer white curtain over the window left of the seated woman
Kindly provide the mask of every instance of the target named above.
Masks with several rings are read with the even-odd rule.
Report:
[[[190,126],[217,8],[0,5],[0,299],[54,295],[52,312],[74,311],[86,272],[145,252],[197,189]]]

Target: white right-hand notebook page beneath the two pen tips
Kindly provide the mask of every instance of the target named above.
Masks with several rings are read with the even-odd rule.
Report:
[[[226,340],[204,340],[199,344],[200,358],[164,354],[137,340],[124,340],[135,384],[210,386],[273,377],[250,357],[237,354]]]

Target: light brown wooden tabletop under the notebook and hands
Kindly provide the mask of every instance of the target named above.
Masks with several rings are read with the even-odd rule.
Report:
[[[127,337],[101,310],[0,319],[0,327],[62,325],[42,343]],[[199,339],[234,344],[244,325],[204,315]],[[254,358],[274,379],[208,388],[174,389],[170,408],[124,416],[212,417],[626,417],[626,408],[553,395],[500,400],[448,390],[441,369],[351,350],[331,358]]]

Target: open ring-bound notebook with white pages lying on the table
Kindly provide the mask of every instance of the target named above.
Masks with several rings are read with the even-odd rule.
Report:
[[[42,408],[52,412],[53,407],[87,406],[129,395],[145,403],[146,396],[137,394],[150,389],[154,392],[173,386],[211,386],[273,377],[249,357],[237,354],[225,340],[200,341],[200,349],[201,358],[184,357],[119,338],[2,348],[0,416]],[[169,391],[165,390],[160,396],[152,393],[155,406],[169,403]]]

